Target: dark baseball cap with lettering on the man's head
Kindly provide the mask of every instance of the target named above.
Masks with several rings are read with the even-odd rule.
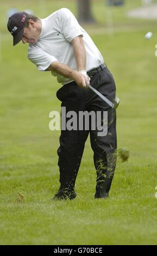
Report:
[[[8,20],[8,30],[13,35],[13,45],[17,45],[23,37],[23,30],[28,20],[28,13],[13,14]]]

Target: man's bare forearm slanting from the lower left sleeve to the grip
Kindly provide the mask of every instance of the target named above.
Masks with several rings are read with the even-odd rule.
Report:
[[[86,88],[86,83],[89,83],[89,80],[86,76],[79,73],[77,70],[73,70],[69,66],[62,64],[60,62],[52,62],[52,64],[48,67],[47,70],[55,71],[59,75],[74,80],[80,87]]]

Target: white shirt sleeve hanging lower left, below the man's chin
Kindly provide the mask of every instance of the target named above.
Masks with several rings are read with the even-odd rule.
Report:
[[[58,59],[42,50],[40,47],[29,48],[28,59],[41,71],[46,70],[52,62],[58,62]]]

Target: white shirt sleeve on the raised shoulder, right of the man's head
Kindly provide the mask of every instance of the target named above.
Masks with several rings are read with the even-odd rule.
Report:
[[[76,17],[70,10],[62,8],[58,15],[61,32],[67,41],[71,42],[76,36],[83,35]]]

